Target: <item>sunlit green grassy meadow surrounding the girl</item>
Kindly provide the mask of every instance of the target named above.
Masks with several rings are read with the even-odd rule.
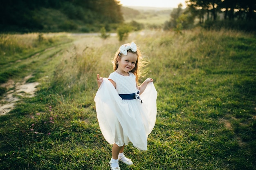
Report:
[[[1,83],[27,75],[40,83],[34,97],[18,96],[0,116],[1,170],[109,170],[112,146],[94,103],[97,73],[108,77],[115,52],[132,41],[154,79],[157,120],[148,150],[129,144],[134,164],[121,169],[256,169],[255,34],[195,28],[134,32],[124,42],[68,33],[0,38]],[[11,90],[1,87],[1,99]]]

